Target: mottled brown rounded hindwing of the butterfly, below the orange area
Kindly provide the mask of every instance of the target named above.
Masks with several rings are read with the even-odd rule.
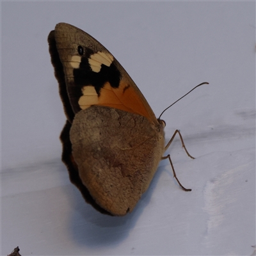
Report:
[[[144,116],[92,106],[70,130],[79,176],[97,204],[113,215],[132,211],[164,150],[164,132]]]

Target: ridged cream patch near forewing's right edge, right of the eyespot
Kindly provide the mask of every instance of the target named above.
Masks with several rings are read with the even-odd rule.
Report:
[[[90,56],[88,62],[90,64],[90,67],[92,68],[92,71],[98,73],[100,72],[101,64],[109,67],[113,60],[114,57],[108,52],[97,52]]]

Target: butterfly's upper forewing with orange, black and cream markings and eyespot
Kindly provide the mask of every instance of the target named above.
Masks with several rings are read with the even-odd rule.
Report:
[[[56,25],[54,37],[74,113],[101,105],[137,113],[157,123],[145,97],[103,45],[65,23]]]

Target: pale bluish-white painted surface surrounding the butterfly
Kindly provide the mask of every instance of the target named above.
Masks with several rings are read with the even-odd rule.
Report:
[[[84,203],[61,163],[47,36],[67,22],[124,66],[174,141],[125,217]],[[1,255],[255,255],[255,2],[1,2]],[[254,252],[253,252],[254,251]],[[254,254],[253,254],[254,253]]]

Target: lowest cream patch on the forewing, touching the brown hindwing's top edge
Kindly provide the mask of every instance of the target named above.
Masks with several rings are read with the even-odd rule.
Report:
[[[78,100],[81,109],[89,108],[92,105],[98,104],[99,97],[93,86],[84,86],[82,88],[83,96]]]

